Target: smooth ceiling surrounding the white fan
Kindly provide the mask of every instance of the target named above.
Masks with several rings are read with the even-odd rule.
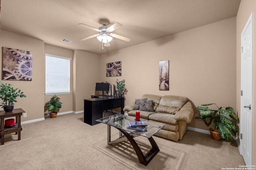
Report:
[[[240,0],[1,0],[1,29],[100,55],[235,17],[239,5]],[[103,50],[96,37],[80,41],[98,32],[78,23],[99,28],[101,19],[107,26],[122,24],[113,33],[131,41],[113,38]]]

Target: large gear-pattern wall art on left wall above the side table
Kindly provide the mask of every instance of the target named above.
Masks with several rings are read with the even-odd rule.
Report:
[[[2,80],[32,80],[32,52],[2,47]]]

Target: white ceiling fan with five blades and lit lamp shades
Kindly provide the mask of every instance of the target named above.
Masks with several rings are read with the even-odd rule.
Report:
[[[123,26],[120,23],[117,22],[117,23],[114,23],[113,25],[111,25],[110,27],[107,27],[106,26],[108,24],[107,20],[101,20],[100,22],[102,23],[103,26],[99,27],[99,29],[91,27],[91,26],[86,25],[84,23],[79,23],[78,25],[82,25],[84,27],[87,27],[87,28],[90,28],[90,29],[93,29],[93,30],[99,32],[98,34],[91,35],[89,37],[85,37],[85,38],[82,38],[80,40],[81,41],[85,41],[87,39],[91,39],[93,37],[97,37],[97,39],[100,42],[102,42],[102,49],[103,49],[103,43],[104,43],[105,47],[109,47],[110,46],[110,41],[113,39],[113,37],[121,39],[121,40],[124,40],[124,41],[127,41],[127,42],[129,42],[131,40],[130,38],[127,38],[127,37],[124,37],[124,36],[112,33],[112,31],[114,31],[114,30],[116,30],[116,29],[118,29],[118,28]]]

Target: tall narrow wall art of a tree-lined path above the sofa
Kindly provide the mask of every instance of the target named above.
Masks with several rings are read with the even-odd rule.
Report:
[[[159,90],[169,90],[169,61],[159,62]]]

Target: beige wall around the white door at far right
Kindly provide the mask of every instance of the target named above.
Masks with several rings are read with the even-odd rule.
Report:
[[[256,74],[255,73],[255,68],[256,68],[256,3],[255,0],[242,0],[239,6],[238,14],[236,17],[236,106],[237,106],[237,111],[238,115],[240,116],[240,90],[241,90],[241,33],[244,29],[244,26],[251,14],[251,12],[254,12],[253,15],[253,99],[252,99],[252,106],[256,106]],[[255,109],[252,107],[252,133],[253,133],[253,141],[256,141],[256,116],[255,116]],[[256,143],[252,143],[252,165],[256,164]]]

